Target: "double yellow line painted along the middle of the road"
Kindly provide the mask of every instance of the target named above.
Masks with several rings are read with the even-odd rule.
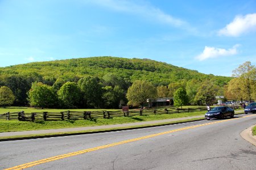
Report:
[[[249,116],[244,116],[244,117],[251,117],[251,116],[255,116],[255,114],[249,115]],[[244,117],[240,117],[240,118],[244,118]],[[68,157],[75,156],[75,155],[85,154],[87,152],[92,152],[92,151],[100,150],[102,148],[108,148],[108,147],[112,147],[112,146],[121,145],[121,144],[124,144],[124,143],[129,143],[129,142],[139,141],[139,140],[142,140],[142,139],[156,137],[156,136],[163,135],[163,134],[173,133],[175,131],[193,129],[193,128],[198,128],[200,126],[207,126],[207,125],[217,124],[217,123],[220,123],[220,122],[226,122],[226,121],[230,121],[230,120],[237,120],[237,118],[221,120],[221,121],[215,121],[215,122],[209,122],[209,123],[206,123],[206,124],[194,125],[194,126],[189,126],[189,127],[180,128],[180,129],[174,129],[174,130],[170,130],[170,131],[164,131],[162,133],[156,133],[156,134],[151,134],[151,135],[147,135],[147,136],[144,136],[144,137],[139,137],[139,138],[129,139],[129,140],[126,140],[126,141],[111,143],[109,145],[103,145],[103,146],[97,146],[97,147],[93,147],[93,148],[88,148],[86,150],[71,152],[71,153],[63,154],[63,155],[57,155],[57,156],[53,156],[51,158],[41,159],[41,160],[37,160],[35,162],[30,162],[30,163],[18,165],[18,166],[15,166],[15,167],[7,168],[5,170],[25,169],[25,168],[29,168],[29,167],[34,167],[35,165],[38,165],[38,164],[52,162],[53,160],[68,158]]]

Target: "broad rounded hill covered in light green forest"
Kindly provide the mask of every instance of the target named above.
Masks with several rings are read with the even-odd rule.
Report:
[[[0,86],[5,84],[3,82],[6,81],[6,78],[14,75],[26,77],[28,82],[38,81],[52,85],[57,78],[77,82],[85,75],[102,78],[107,73],[118,75],[126,82],[132,83],[134,80],[140,79],[147,80],[155,86],[191,79],[210,79],[218,86],[222,86],[231,79],[225,76],[202,74],[196,70],[184,69],[151,59],[90,57],[0,67]]]

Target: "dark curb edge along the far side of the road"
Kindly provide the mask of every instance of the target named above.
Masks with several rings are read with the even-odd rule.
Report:
[[[146,125],[141,127],[134,127],[134,128],[121,128],[121,129],[112,129],[112,130],[98,130],[98,131],[88,131],[88,132],[79,132],[79,133],[70,133],[70,134],[57,134],[57,135],[44,135],[44,136],[34,136],[34,137],[18,137],[18,138],[7,138],[7,139],[0,139],[0,142],[3,141],[18,141],[18,140],[24,140],[24,139],[40,139],[40,138],[52,138],[52,137],[65,137],[65,136],[72,136],[72,135],[82,135],[82,134],[93,134],[93,133],[105,133],[105,132],[111,132],[111,131],[122,131],[122,130],[133,130],[133,129],[143,129],[143,128],[153,128],[158,126],[167,126],[167,125],[176,125],[176,124],[184,124],[188,122],[196,122],[196,121],[202,121],[205,120],[205,118],[200,118],[199,120],[192,120],[192,121],[185,121],[185,122],[176,122],[176,123],[166,123],[161,125]]]

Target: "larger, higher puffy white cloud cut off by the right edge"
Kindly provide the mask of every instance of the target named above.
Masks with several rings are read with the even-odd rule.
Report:
[[[232,23],[218,31],[218,35],[236,37],[251,31],[256,31],[256,13],[236,16]]]

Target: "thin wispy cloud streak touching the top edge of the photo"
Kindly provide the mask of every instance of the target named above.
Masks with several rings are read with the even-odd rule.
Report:
[[[148,3],[138,4],[126,0],[94,0],[92,2],[115,11],[129,12],[131,14],[137,14],[151,20],[157,20],[158,22],[174,25],[175,27],[188,28],[188,23],[184,20],[168,15],[159,8],[155,8]]]

